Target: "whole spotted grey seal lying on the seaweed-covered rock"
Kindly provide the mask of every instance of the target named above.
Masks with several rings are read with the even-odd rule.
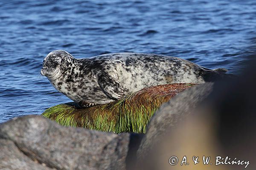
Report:
[[[55,89],[84,108],[122,99],[149,86],[215,81],[226,72],[157,54],[113,53],[77,59],[63,50],[50,52],[41,69]]]

